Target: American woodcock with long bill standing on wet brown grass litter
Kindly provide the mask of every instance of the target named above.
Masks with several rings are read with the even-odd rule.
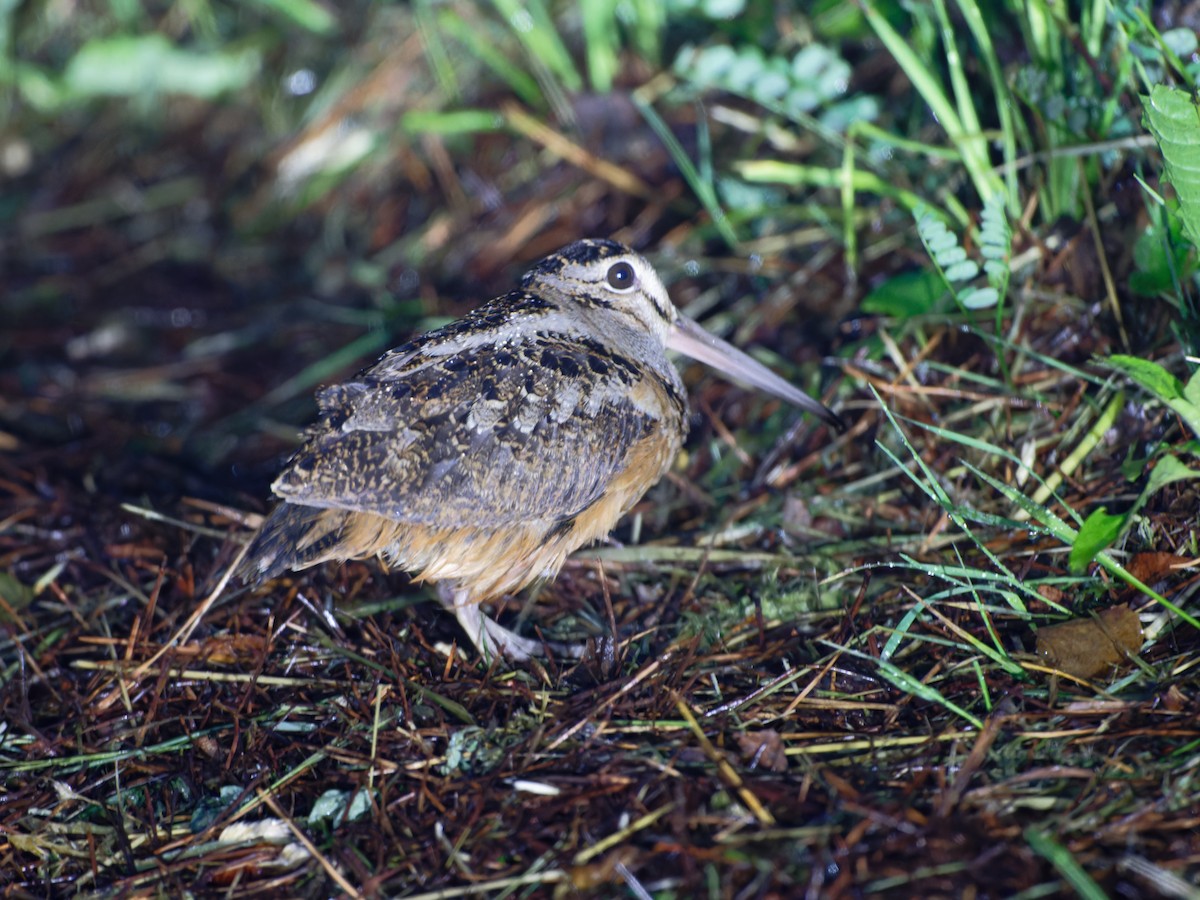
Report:
[[[682,316],[641,256],[583,240],[536,263],[517,290],[322,390],[319,420],[272,485],[282,503],[239,572],[264,580],[378,554],[437,582],[485,654],[541,653],[479,604],[553,577],[666,473],[688,431],[667,350],[841,427]]]

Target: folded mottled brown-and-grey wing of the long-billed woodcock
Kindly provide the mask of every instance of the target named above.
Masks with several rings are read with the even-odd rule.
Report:
[[[652,431],[682,440],[672,385],[588,341],[397,359],[320,394],[276,494],[433,529],[558,521],[596,503]],[[654,402],[637,402],[643,382]]]

